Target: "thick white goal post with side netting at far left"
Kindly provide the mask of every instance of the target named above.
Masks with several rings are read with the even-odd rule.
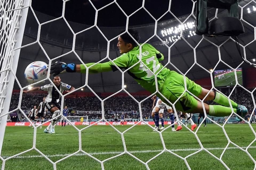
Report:
[[[2,44],[0,53],[0,65],[2,66],[0,71],[0,155],[6,121],[10,113],[11,95],[16,77],[28,8],[29,0],[0,1],[1,22],[3,22],[0,30],[0,43]]]

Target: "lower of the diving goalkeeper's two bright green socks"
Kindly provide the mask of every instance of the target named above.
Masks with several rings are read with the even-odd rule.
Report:
[[[232,108],[220,106],[220,105],[209,105],[209,115],[222,117],[222,116],[229,116],[232,113]],[[234,112],[237,113],[237,109],[234,109]]]

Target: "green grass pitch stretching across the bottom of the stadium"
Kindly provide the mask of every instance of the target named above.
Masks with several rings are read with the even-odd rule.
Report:
[[[256,129],[256,124],[252,124]],[[46,127],[46,126],[45,126]],[[82,129],[85,126],[77,126]],[[126,126],[115,126],[123,132]],[[190,125],[188,126],[190,127]],[[176,128],[176,126],[175,126]],[[248,124],[226,124],[225,130],[232,142],[240,147],[247,147],[255,135]],[[44,134],[43,129],[36,131],[36,148],[47,155],[52,162],[56,162],[79,150],[78,131],[72,126],[55,126],[56,134]],[[111,126],[92,126],[82,131],[82,150],[91,154],[98,160],[105,160],[124,151],[121,135]],[[29,150],[33,146],[34,129],[22,126],[6,127],[5,138],[1,156],[5,159],[9,156]],[[183,127],[181,131],[171,131],[171,128],[162,132],[163,140],[167,149],[181,157],[186,157],[197,152],[201,147],[195,135]],[[207,148],[216,157],[220,157],[228,141],[222,129],[214,124],[200,127],[197,136],[203,147]],[[137,125],[124,134],[127,151],[132,155],[147,162],[163,150],[160,135],[153,132],[147,125]],[[256,143],[248,152],[256,159]],[[217,159],[206,151],[200,151],[187,159],[191,169],[226,169]],[[230,144],[222,155],[223,162],[230,169],[254,169],[254,162],[246,152]],[[2,161],[1,161],[2,165]],[[107,160],[103,164],[104,169],[146,169],[146,166],[128,154]],[[148,163],[152,169],[187,169],[185,161],[169,152],[164,152]],[[89,156],[79,152],[56,164],[59,170],[70,169],[101,169],[101,164]],[[36,150],[31,150],[5,162],[5,169],[15,170],[38,170],[53,169],[53,164],[45,159]]]

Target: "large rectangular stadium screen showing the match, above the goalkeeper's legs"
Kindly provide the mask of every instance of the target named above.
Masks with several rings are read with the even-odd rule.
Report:
[[[237,69],[238,83],[243,86],[242,68]],[[215,70],[214,71],[214,86],[215,87],[231,87],[235,86],[235,71],[232,69]]]

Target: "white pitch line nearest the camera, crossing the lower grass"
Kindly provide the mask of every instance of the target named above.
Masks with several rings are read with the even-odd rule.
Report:
[[[245,149],[246,146],[243,146],[241,148]],[[249,148],[256,148],[256,146],[251,146]],[[223,150],[225,148],[205,148],[205,149],[209,151],[209,150]],[[239,148],[237,148],[237,147],[228,147],[227,149],[239,149]],[[198,151],[198,150],[200,150],[200,148],[171,149],[170,151],[178,152],[178,151]],[[136,154],[136,153],[150,153],[150,152],[162,152],[162,151],[163,150],[144,150],[144,151],[138,151],[137,150],[137,151],[128,151],[128,152],[130,152],[131,154]],[[113,151],[113,152],[92,152],[92,153],[88,153],[88,154],[90,154],[90,155],[110,155],[110,154],[117,155],[117,154],[121,154],[121,153],[123,153],[123,152]],[[50,157],[65,157],[65,156],[69,156],[71,154],[72,153],[70,153],[70,154],[46,155],[46,156],[48,158],[50,158]],[[86,156],[86,154],[75,154],[74,156]],[[3,159],[6,159],[8,157],[10,157],[10,156],[2,156]],[[14,158],[17,159],[17,158],[42,158],[42,157],[44,157],[44,156],[42,156],[42,155],[31,155],[31,156],[16,156]]]

